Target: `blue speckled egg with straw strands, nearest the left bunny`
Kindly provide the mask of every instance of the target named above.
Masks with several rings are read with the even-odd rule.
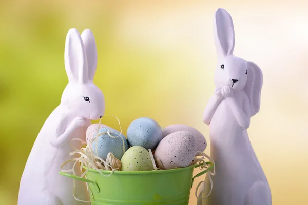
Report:
[[[103,160],[106,160],[106,157],[109,152],[111,152],[115,158],[121,159],[124,152],[129,149],[127,139],[123,134],[117,137],[120,132],[112,128],[100,128],[99,133],[104,133],[109,130],[109,134],[105,133],[98,137],[97,141],[92,142],[92,149],[95,155],[99,156]],[[97,144],[96,144],[97,142]],[[124,152],[123,152],[123,142],[124,142]]]

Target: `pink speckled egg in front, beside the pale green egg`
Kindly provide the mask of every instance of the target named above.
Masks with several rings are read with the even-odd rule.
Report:
[[[187,167],[196,154],[196,139],[188,131],[178,131],[164,137],[158,144],[154,158],[161,160],[164,169]]]

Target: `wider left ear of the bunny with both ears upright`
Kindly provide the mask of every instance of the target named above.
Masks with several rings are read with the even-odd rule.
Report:
[[[88,78],[87,56],[77,29],[68,31],[64,51],[65,70],[69,81],[86,83]]]

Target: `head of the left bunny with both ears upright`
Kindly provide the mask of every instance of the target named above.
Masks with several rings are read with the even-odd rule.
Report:
[[[91,120],[101,118],[105,112],[104,95],[93,83],[97,58],[91,30],[86,29],[80,35],[77,29],[70,29],[65,43],[68,84],[62,94],[61,104],[75,115]]]

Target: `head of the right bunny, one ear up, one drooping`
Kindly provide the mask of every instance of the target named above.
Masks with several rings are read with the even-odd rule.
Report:
[[[234,25],[232,17],[225,9],[215,12],[214,37],[218,55],[215,85],[230,87],[234,92],[244,90],[251,104],[251,116],[254,116],[260,110],[262,71],[255,63],[233,55]]]

